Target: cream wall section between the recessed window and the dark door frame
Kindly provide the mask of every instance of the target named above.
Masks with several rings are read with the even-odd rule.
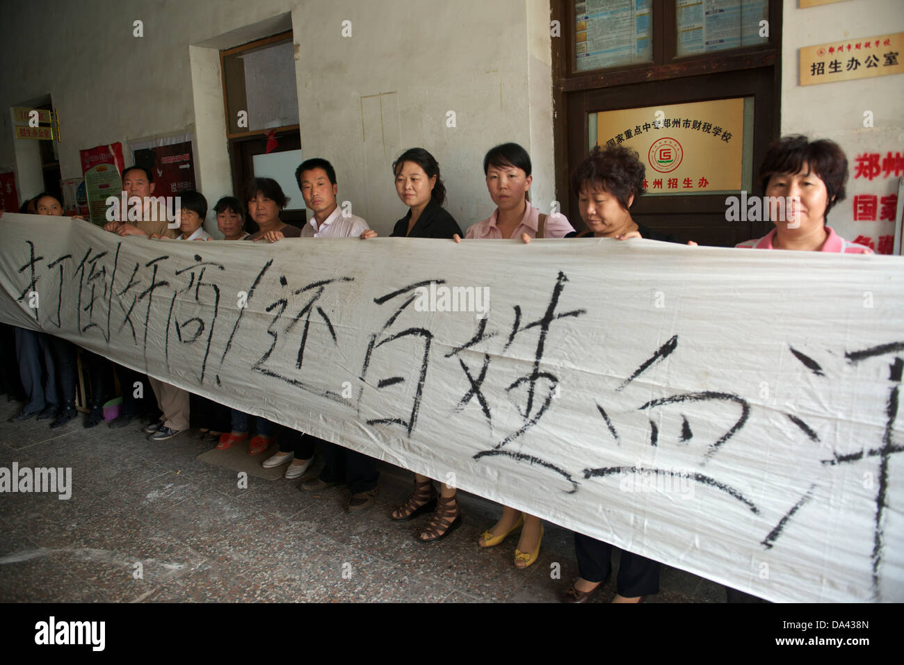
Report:
[[[340,198],[381,234],[407,211],[391,163],[413,146],[438,159],[462,229],[492,213],[483,158],[506,141],[528,150],[541,201],[551,201],[551,124],[544,134],[531,123],[533,108],[551,120],[550,73],[529,68],[538,35],[549,51],[548,0],[334,0],[299,5],[292,18],[302,150],[333,161]],[[341,20],[352,37],[341,37]]]

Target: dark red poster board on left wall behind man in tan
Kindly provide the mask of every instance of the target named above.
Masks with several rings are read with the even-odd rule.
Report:
[[[132,164],[153,173],[155,196],[172,196],[197,189],[193,143],[191,132],[129,142]]]

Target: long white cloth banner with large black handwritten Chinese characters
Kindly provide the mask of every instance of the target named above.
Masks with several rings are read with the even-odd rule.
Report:
[[[904,600],[904,259],[0,243],[6,323],[769,600]]]

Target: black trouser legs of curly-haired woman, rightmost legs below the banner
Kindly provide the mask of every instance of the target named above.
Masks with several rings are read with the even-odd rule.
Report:
[[[612,574],[613,546],[580,533],[574,534],[580,576],[588,582],[605,582]],[[626,598],[659,593],[659,562],[621,550],[616,590]]]

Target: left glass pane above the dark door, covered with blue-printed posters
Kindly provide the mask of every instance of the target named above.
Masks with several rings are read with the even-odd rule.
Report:
[[[575,70],[653,61],[651,0],[575,0]]]

